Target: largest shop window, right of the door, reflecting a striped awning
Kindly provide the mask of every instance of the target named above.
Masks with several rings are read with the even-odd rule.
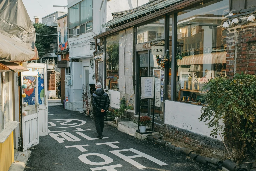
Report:
[[[176,100],[201,105],[205,82],[225,77],[229,0],[211,1],[177,15]],[[202,104],[204,102],[202,101]]]

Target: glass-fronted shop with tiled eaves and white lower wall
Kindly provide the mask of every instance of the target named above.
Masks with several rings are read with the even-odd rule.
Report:
[[[229,1],[154,3],[158,8],[152,4],[114,14],[113,20],[102,25],[112,29],[94,37],[106,43],[106,86],[120,94],[127,94],[127,86],[132,86],[135,114],[140,109],[141,115],[152,116],[154,102],[140,100],[139,78],[155,75],[154,121],[209,137],[211,129],[198,120],[205,105],[200,98],[207,91],[203,89],[207,80],[226,76],[226,29],[222,24],[229,14]],[[132,36],[122,33],[128,29]],[[133,39],[128,42],[126,36]],[[120,56],[122,49],[132,58]],[[120,76],[123,72],[125,79]],[[129,84],[128,74],[132,74]]]

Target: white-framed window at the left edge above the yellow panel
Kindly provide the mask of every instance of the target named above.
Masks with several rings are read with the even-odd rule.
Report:
[[[0,73],[0,132],[4,130],[4,125],[10,120],[10,96],[11,96],[11,73]]]

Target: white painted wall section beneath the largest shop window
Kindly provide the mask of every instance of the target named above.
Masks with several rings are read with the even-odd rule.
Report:
[[[210,137],[213,128],[208,128],[205,122],[199,122],[202,106],[165,100],[165,124],[192,131]],[[213,138],[213,137],[211,137]],[[217,136],[218,140],[221,140]]]

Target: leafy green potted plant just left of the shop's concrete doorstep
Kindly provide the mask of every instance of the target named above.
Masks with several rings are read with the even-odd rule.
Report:
[[[120,121],[129,121],[129,119],[127,118],[127,111],[128,109],[132,109],[131,105],[127,106],[125,97],[122,97],[119,100],[120,100],[119,104],[116,104],[119,107],[119,109],[114,110],[116,114],[115,119],[117,124]]]

